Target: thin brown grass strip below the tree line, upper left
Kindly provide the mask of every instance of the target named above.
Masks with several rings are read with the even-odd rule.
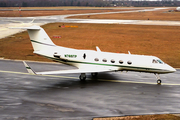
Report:
[[[11,11],[8,11],[11,9]],[[21,8],[22,10],[19,11],[18,8],[8,8],[6,11],[2,10],[0,7],[0,17],[34,17],[34,16],[49,16],[49,15],[67,15],[67,14],[82,14],[82,13],[98,13],[98,12],[116,12],[116,11],[130,11],[132,9],[98,9],[98,8],[80,8],[80,7],[57,7],[53,10],[51,7],[47,8]],[[44,9],[44,10],[43,10]],[[80,10],[84,9],[84,10]],[[142,8],[140,8],[142,9]],[[133,10],[140,10],[140,9],[133,9]]]

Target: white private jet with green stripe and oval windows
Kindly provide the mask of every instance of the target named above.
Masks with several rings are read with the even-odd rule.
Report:
[[[129,54],[102,52],[99,47],[96,47],[96,51],[61,47],[55,45],[40,26],[23,27],[21,29],[27,29],[35,54],[78,68],[65,71],[34,72],[24,62],[30,74],[80,73],[79,79],[84,81],[86,73],[96,76],[98,72],[137,71],[154,73],[157,77],[157,83],[160,84],[159,74],[176,71],[155,56],[133,55],[130,52]]]

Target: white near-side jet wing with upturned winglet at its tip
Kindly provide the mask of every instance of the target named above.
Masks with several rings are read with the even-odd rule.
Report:
[[[31,69],[31,67],[23,61],[27,71],[30,74],[36,75],[46,75],[46,74],[68,74],[68,73],[96,73],[96,72],[110,72],[110,71],[117,71],[116,69],[109,69],[109,68],[91,68],[91,69],[73,69],[73,70],[58,70],[58,71],[46,71],[46,72],[35,72]]]

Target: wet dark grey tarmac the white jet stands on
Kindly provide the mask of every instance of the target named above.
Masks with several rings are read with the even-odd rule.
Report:
[[[74,67],[28,62],[35,71]],[[0,60],[1,119],[90,120],[94,117],[180,113],[180,70],[160,75],[99,73],[86,82],[79,74],[29,75],[22,61]]]

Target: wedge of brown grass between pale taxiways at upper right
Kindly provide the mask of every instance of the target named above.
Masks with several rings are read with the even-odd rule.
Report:
[[[91,15],[91,16],[72,16],[69,18],[80,19],[118,19],[118,20],[163,20],[163,21],[179,21],[180,12],[168,12],[175,8],[163,9],[149,12],[132,12],[132,13],[117,13],[107,15]]]

